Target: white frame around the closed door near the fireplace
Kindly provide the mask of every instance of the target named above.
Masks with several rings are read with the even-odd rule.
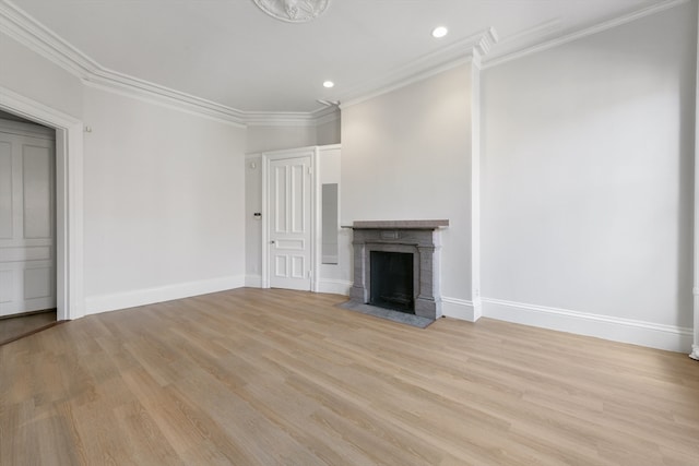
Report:
[[[310,157],[310,290],[318,292],[318,272],[320,271],[320,223],[319,223],[319,180],[318,146],[289,148],[262,153],[262,288],[270,288],[270,162]]]

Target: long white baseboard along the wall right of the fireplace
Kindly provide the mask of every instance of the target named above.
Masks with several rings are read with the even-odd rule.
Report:
[[[483,315],[678,353],[689,353],[692,340],[691,328],[491,298],[483,298]]]

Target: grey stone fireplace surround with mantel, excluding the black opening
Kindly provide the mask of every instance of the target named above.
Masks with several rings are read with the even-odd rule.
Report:
[[[415,315],[441,316],[439,277],[440,228],[449,220],[363,220],[351,227],[354,249],[354,284],[350,301],[369,303],[371,297],[371,251],[413,254]]]

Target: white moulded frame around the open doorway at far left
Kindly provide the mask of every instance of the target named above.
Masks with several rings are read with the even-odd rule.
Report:
[[[56,130],[57,320],[84,315],[83,123],[0,86],[0,109]]]

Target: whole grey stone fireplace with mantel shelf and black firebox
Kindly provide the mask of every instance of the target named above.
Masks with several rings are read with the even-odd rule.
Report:
[[[441,316],[439,229],[449,220],[355,222],[350,301]]]

